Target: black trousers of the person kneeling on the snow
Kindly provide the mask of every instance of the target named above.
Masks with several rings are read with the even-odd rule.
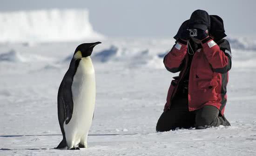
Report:
[[[176,128],[205,129],[219,125],[230,126],[220,111],[211,105],[204,106],[200,110],[189,111],[188,96],[176,96],[173,99],[170,110],[163,112],[156,124],[156,131],[169,131]]]

